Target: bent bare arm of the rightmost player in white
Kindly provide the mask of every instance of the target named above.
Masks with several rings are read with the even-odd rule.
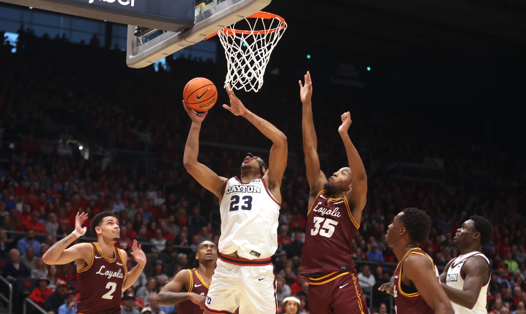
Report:
[[[466,272],[462,290],[450,287],[443,282],[441,285],[451,302],[472,309],[477,303],[482,285],[484,285],[490,276],[490,268],[482,257],[477,258],[477,256],[475,256],[466,260],[466,263],[462,266],[462,270]],[[444,273],[447,273],[447,270],[444,270]]]

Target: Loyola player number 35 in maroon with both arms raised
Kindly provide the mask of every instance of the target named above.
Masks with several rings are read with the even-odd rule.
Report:
[[[366,314],[369,311],[358,283],[351,244],[366,203],[367,175],[349,138],[350,113],[341,115],[338,128],[349,167],[341,168],[327,179],[318,158],[309,72],[305,75],[305,85],[301,81],[299,85],[303,103],[303,149],[310,185],[300,274],[309,276],[309,309],[316,314]]]

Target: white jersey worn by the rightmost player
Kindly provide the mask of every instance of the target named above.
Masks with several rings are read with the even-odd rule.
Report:
[[[484,258],[488,265],[490,264],[490,261],[487,257],[485,257],[484,254],[480,252],[470,252],[468,254],[460,255],[459,257],[453,259],[451,265],[448,269],[448,276],[446,278],[446,285],[463,290],[464,287],[464,277],[462,276],[462,266],[466,262],[466,260],[472,256],[480,256]],[[482,289],[480,289],[479,298],[477,299],[477,303],[475,303],[475,306],[473,309],[468,309],[463,306],[458,305],[457,303],[451,302],[451,306],[453,307],[453,310],[457,314],[487,314],[488,310],[486,310],[486,302],[488,298],[488,284],[490,282],[491,275],[488,275],[488,281],[482,286]]]

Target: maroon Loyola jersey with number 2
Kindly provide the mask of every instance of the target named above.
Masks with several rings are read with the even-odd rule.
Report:
[[[114,257],[109,258],[97,243],[92,246],[92,258],[83,269],[78,269],[80,296],[77,312],[86,314],[120,314],[126,263],[120,249],[114,248]]]

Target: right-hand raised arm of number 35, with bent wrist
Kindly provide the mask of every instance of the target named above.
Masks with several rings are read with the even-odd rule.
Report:
[[[361,211],[367,201],[367,174],[360,154],[358,154],[355,145],[352,144],[351,138],[349,137],[349,127],[352,122],[351,113],[349,111],[343,113],[340,119],[341,125],[338,128],[338,133],[340,133],[341,140],[345,146],[349,168],[354,177],[352,180],[352,189],[347,192],[346,197],[347,200],[356,204],[356,209]]]

